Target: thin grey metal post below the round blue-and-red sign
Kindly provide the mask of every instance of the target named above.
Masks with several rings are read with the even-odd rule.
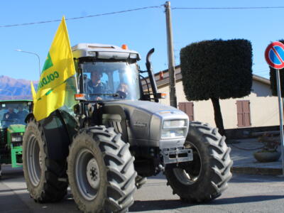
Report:
[[[281,88],[280,88],[280,73],[276,69],[276,81],[277,81],[277,93],[278,93],[278,104],[279,104],[279,119],[280,119],[280,141],[281,141],[281,153],[282,153],[282,174],[284,175],[284,141],[283,141],[283,102],[281,99]]]

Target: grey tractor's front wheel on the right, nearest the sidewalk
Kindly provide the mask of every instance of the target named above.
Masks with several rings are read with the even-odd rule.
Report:
[[[173,193],[186,202],[209,202],[219,197],[231,179],[231,148],[216,128],[191,122],[185,141],[192,148],[193,161],[169,164],[165,176]]]

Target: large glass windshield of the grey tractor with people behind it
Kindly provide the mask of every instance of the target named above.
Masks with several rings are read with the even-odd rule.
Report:
[[[136,63],[84,62],[82,72],[89,101],[140,98]]]

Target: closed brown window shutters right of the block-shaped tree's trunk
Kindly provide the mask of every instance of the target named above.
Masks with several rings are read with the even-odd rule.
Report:
[[[238,127],[251,126],[251,109],[249,101],[236,101]]]

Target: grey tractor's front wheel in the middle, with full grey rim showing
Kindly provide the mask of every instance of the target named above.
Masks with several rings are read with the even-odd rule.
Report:
[[[78,133],[68,157],[74,200],[83,212],[126,212],[136,190],[129,143],[113,128],[95,126]]]

